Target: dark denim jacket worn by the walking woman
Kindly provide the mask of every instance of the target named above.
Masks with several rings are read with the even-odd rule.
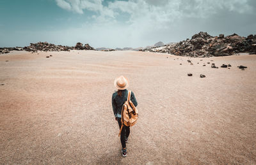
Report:
[[[127,89],[122,90],[122,96],[121,97],[118,96],[117,91],[113,93],[113,95],[112,95],[112,108],[113,108],[113,112],[114,112],[115,117],[119,117],[119,118],[121,117],[123,104],[125,103],[125,101],[127,101],[127,94],[128,94]],[[131,101],[134,104],[134,106],[138,105],[133,92],[131,92]]]

